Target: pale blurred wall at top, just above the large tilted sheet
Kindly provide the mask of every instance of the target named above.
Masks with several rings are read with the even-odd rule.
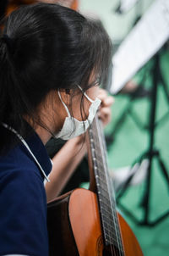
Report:
[[[100,18],[113,42],[121,42],[132,29],[134,20],[144,14],[155,0],[139,0],[128,13],[117,14],[119,0],[79,0],[79,10]]]

